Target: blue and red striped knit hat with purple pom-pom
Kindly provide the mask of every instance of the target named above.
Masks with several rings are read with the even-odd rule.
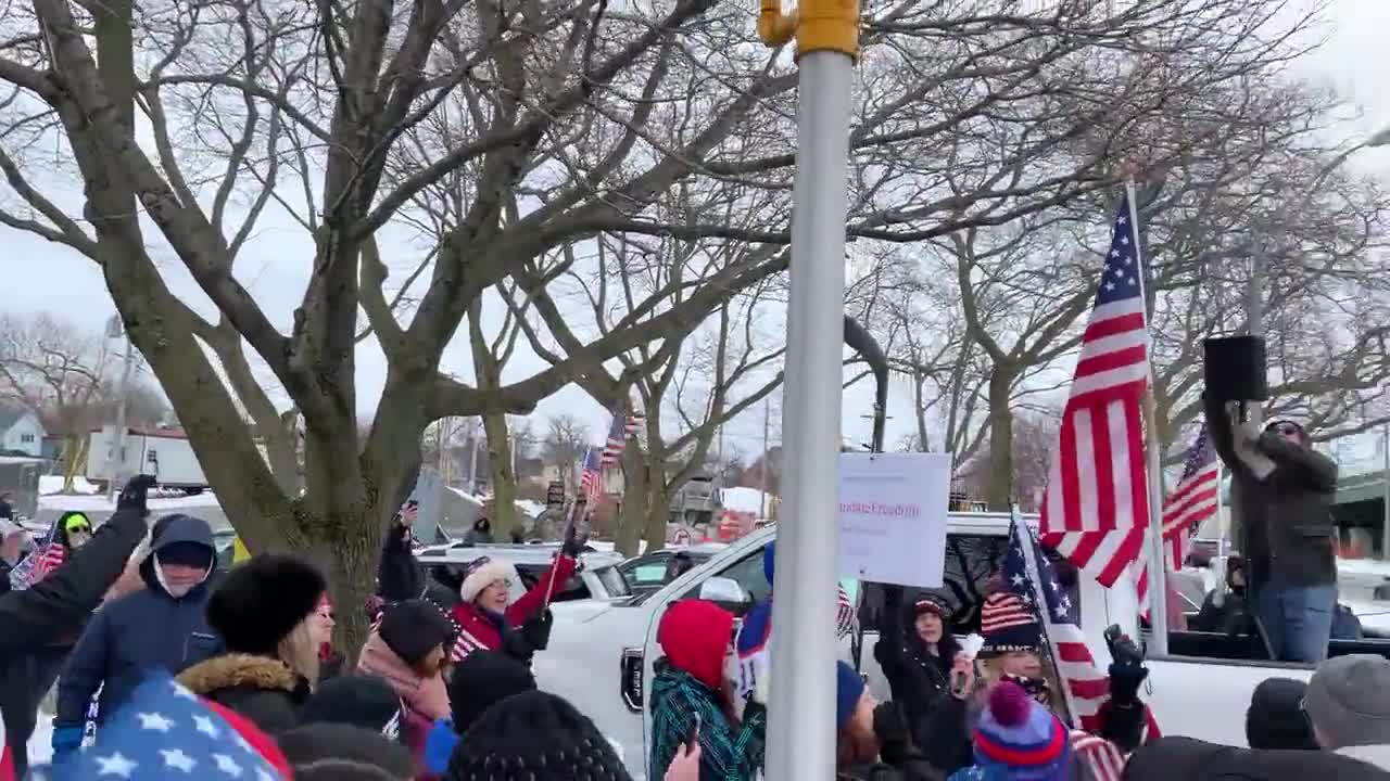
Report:
[[[1012,781],[1063,781],[1072,759],[1066,727],[1052,712],[1004,681],[990,692],[990,707],[974,730],[974,762]]]

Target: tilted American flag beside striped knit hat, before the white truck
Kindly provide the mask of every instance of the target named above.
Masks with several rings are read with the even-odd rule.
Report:
[[[1062,685],[1072,717],[1079,727],[1072,731],[1072,748],[1091,767],[1097,781],[1119,781],[1125,753],[1095,735],[1101,728],[1101,705],[1111,696],[1111,678],[1095,663],[1081,632],[1081,606],[1072,602],[1056,578],[1056,570],[1038,546],[1033,529],[1017,517],[1009,525],[1009,550],[1004,557],[1004,581],[1009,592],[1031,607],[1042,624],[1058,682]],[[1041,585],[1042,588],[1038,588]],[[995,595],[1001,596],[1001,595]],[[1158,724],[1145,710],[1148,732],[1158,735]]]

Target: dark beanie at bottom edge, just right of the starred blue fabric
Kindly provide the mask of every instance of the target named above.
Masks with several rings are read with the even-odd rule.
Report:
[[[374,771],[384,771],[386,778],[406,781],[416,775],[416,760],[410,756],[410,749],[378,732],[348,724],[295,727],[281,732],[277,742],[295,767],[295,778],[377,778]],[[336,770],[359,766],[364,774],[329,774],[329,767],[325,766]]]

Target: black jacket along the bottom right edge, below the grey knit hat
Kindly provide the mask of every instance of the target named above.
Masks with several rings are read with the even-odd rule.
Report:
[[[1390,773],[1332,752],[1252,750],[1191,738],[1159,738],[1125,764],[1125,781],[1384,781]]]

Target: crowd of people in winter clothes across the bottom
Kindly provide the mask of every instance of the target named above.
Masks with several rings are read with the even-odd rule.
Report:
[[[741,620],[702,599],[670,605],[656,632],[648,755],[624,762],[531,673],[549,642],[552,582],[578,566],[584,539],[573,527],[539,582],[513,595],[496,559],[425,571],[413,554],[416,507],[406,504],[386,531],[375,596],[353,607],[368,611],[367,639],[339,649],[320,568],[267,553],[214,574],[207,523],[149,523],[152,484],[132,481],[99,528],[65,516],[61,561],[0,595],[0,781],[178,778],[200,763],[257,781],[626,780],[631,764],[652,781],[763,774],[771,596]],[[473,534],[477,542],[491,528]],[[6,566],[18,566],[0,545]],[[773,545],[764,571],[771,585]],[[1244,570],[1232,573],[1229,605],[1245,593]],[[1277,577],[1261,573],[1265,584]],[[838,778],[1390,778],[1383,657],[1323,661],[1308,684],[1265,681],[1248,710],[1250,748],[1230,748],[1162,737],[1140,696],[1143,653],[1108,634],[1108,700],[1087,731],[1068,712],[1036,613],[1002,578],[977,606],[979,635],[952,632],[951,605],[930,591],[908,600],[885,589],[873,656],[890,700],[844,661],[798,681],[834,687]],[[841,595],[845,628],[848,606]],[[1236,620],[1208,607],[1218,625]],[[1287,648],[1297,646],[1290,636]],[[38,705],[54,682],[51,763],[31,763]]]

